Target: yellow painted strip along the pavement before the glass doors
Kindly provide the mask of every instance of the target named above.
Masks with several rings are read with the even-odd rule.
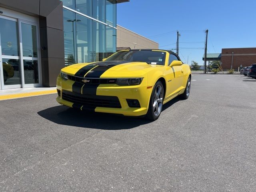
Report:
[[[37,95],[53,94],[53,93],[57,93],[57,90],[55,89],[55,90],[48,90],[48,91],[36,91],[36,92],[0,95],[0,100],[16,99],[16,98],[22,98],[22,97],[31,97],[31,96],[37,96]]]

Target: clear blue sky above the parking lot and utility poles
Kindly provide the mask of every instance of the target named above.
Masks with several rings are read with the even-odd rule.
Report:
[[[117,24],[158,42],[160,49],[175,48],[179,30],[181,60],[202,65],[206,29],[207,53],[256,47],[255,8],[255,0],[130,0],[118,4]]]

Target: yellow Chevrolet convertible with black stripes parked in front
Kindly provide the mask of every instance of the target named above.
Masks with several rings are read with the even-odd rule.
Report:
[[[56,100],[80,110],[156,120],[163,104],[178,95],[188,98],[190,82],[190,67],[174,52],[124,50],[102,62],[63,68]]]

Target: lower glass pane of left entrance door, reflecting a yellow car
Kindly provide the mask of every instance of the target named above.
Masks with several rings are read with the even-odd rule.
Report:
[[[20,80],[20,60],[2,59],[4,85],[19,85]]]

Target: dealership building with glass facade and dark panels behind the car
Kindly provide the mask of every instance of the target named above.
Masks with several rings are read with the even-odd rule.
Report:
[[[129,0],[1,0],[0,90],[56,86],[65,65],[116,52],[116,5],[124,2]],[[158,48],[133,36],[135,46]]]

